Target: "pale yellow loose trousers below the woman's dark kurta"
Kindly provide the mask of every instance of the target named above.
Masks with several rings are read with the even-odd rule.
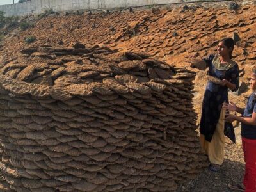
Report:
[[[221,109],[220,118],[216,129],[212,136],[211,142],[205,140],[203,134],[200,134],[200,143],[204,152],[208,155],[209,161],[212,164],[221,165],[224,161],[224,126],[225,126],[225,109]]]

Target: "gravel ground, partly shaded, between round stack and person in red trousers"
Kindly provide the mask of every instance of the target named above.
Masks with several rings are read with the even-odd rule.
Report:
[[[228,183],[243,181],[244,159],[240,128],[237,127],[235,130],[236,144],[225,138],[225,160],[220,171],[214,173],[206,168],[195,180],[181,186],[179,192],[231,192],[232,190],[228,189]]]

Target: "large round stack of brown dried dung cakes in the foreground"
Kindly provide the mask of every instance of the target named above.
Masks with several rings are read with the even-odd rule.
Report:
[[[1,63],[6,191],[174,191],[206,165],[195,74],[140,52],[30,47]]]

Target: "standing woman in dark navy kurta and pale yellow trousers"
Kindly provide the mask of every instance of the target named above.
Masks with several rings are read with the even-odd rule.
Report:
[[[232,58],[234,41],[225,38],[218,44],[218,54],[209,55],[204,61],[192,63],[191,67],[209,67],[209,76],[218,81],[208,81],[202,104],[200,120],[200,143],[210,161],[210,170],[218,171],[224,160],[224,134],[235,142],[232,124],[225,123],[223,103],[228,103],[228,88],[236,91],[239,86],[239,68]],[[198,67],[200,68],[200,67]]]

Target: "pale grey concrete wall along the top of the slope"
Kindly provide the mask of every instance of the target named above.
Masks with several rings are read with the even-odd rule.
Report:
[[[184,0],[31,0],[24,3],[2,5],[0,10],[5,12],[6,16],[12,16],[39,14],[49,8],[52,8],[55,12],[65,12],[68,10],[124,8],[179,2],[184,2]]]

